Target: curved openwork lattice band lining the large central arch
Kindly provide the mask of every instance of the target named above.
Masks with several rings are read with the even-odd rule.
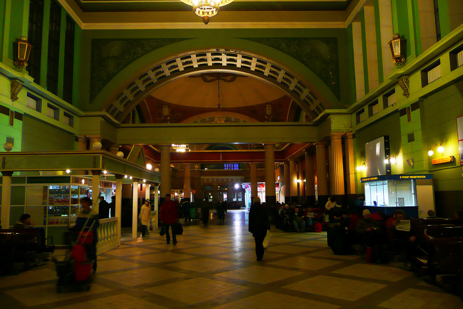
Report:
[[[163,60],[138,76],[106,108],[115,119],[127,114],[151,91],[174,79],[198,72],[232,72],[273,84],[315,119],[325,107],[307,85],[269,59],[237,50],[197,50]]]

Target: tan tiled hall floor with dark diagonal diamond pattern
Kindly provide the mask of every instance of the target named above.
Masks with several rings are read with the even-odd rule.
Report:
[[[272,229],[257,262],[247,212],[225,225],[184,226],[176,246],[165,237],[132,240],[99,257],[89,292],[56,294],[53,264],[0,277],[0,309],[457,309],[457,296],[395,265],[333,255],[326,233]],[[128,236],[128,235],[127,235]],[[63,259],[63,251],[54,254]]]

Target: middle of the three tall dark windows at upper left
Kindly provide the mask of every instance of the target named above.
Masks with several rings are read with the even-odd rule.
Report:
[[[61,31],[61,6],[56,0],[50,4],[50,28],[48,32],[47,90],[58,95],[59,39]]]

